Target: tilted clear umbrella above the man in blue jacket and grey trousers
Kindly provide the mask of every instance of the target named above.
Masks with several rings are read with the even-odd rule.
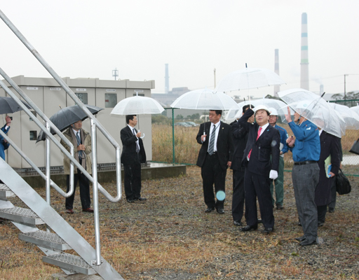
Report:
[[[278,95],[291,109],[322,128],[325,132],[339,138],[345,134],[346,124],[344,119],[318,94],[302,88],[294,88],[278,92]],[[285,120],[284,115],[287,114],[286,109],[285,107],[278,111],[283,122]]]

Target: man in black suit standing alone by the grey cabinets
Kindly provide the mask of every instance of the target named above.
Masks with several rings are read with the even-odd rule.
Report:
[[[125,172],[125,194],[127,202],[136,200],[147,200],[141,197],[141,163],[146,162],[146,153],[141,137],[141,132],[137,132],[136,115],[126,116],[127,126],[121,130],[122,154],[121,162]]]

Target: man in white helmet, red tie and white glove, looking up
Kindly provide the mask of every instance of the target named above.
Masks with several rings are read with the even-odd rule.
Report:
[[[248,123],[253,115],[248,109],[239,119],[241,126],[248,130],[242,164],[245,166],[245,217],[247,226],[242,231],[257,230],[257,197],[264,225],[263,232],[270,233],[274,228],[271,179],[278,177],[280,134],[269,125],[269,111],[266,106],[255,107],[255,125]],[[271,160],[272,157],[272,160]]]

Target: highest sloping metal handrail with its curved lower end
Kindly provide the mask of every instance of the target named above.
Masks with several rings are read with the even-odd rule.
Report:
[[[48,73],[50,73],[50,75],[53,76],[53,78],[57,81],[57,83],[59,83],[59,85],[65,90],[65,92],[67,92],[67,94],[69,94],[69,97],[71,97],[74,100],[74,102],[77,105],[80,106],[82,111],[84,111],[86,113],[86,116],[88,116],[88,118],[93,120],[93,122],[98,127],[98,129],[102,132],[102,134],[104,134],[104,137],[106,137],[111,142],[111,144],[114,146],[114,148],[116,149],[116,189],[117,189],[117,196],[112,197],[111,195],[109,195],[109,193],[107,193],[107,191],[104,190],[104,188],[102,188],[102,186],[100,186],[100,184],[99,184],[99,190],[102,193],[102,195],[104,195],[107,198],[107,200],[109,200],[110,202],[118,202],[119,200],[121,200],[121,197],[122,197],[122,190],[121,190],[121,156],[120,156],[120,153],[119,153],[120,146],[118,145],[116,140],[111,136],[111,134],[109,134],[109,132],[107,132],[107,130],[103,127],[103,125],[95,118],[95,116],[93,116],[93,114],[86,108],[86,106],[81,102],[81,100],[78,97],[76,97],[76,94],[74,94],[74,92],[69,88],[69,86],[64,82],[64,80],[62,80],[62,78],[60,78],[60,76],[57,75],[57,73],[46,62],[46,60],[43,59],[43,57],[41,57],[39,52],[37,52],[37,50],[31,45],[31,43],[29,43],[29,41],[27,41],[27,38],[25,38],[25,36],[23,36],[21,34],[21,32],[15,27],[15,25],[13,25],[13,23],[6,17],[6,15],[1,10],[0,10],[0,18],[5,22],[6,25],[8,25],[8,27],[11,29],[11,31],[13,31],[13,33],[16,36],[18,36],[20,41],[22,41],[22,43],[29,49],[29,51],[32,53],[32,55],[34,55],[34,57],[36,57],[36,59],[39,60],[39,62],[45,67],[45,69],[48,71]],[[29,105],[31,106],[31,104],[29,104]],[[93,160],[95,160],[94,156],[93,156]],[[78,167],[78,168],[80,167],[79,169],[81,170],[81,172],[84,171],[83,174],[85,174],[86,177],[88,177],[88,179],[91,182],[93,182],[92,177],[88,174],[88,172],[86,172],[86,170],[84,170],[80,165],[77,165],[77,162],[74,162],[74,165],[76,165],[76,167]]]

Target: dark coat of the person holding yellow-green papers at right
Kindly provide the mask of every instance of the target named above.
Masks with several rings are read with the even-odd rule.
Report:
[[[335,176],[333,178],[327,178],[327,176],[325,175],[324,161],[327,159],[327,157],[331,156],[331,160],[332,160],[331,172],[337,175],[341,161],[340,155],[341,155],[340,138],[335,137],[334,135],[323,131],[320,134],[320,158],[318,161],[319,183],[316,188],[316,197],[314,199],[317,206],[330,204],[331,201],[330,188],[332,186],[332,181],[335,180]]]

